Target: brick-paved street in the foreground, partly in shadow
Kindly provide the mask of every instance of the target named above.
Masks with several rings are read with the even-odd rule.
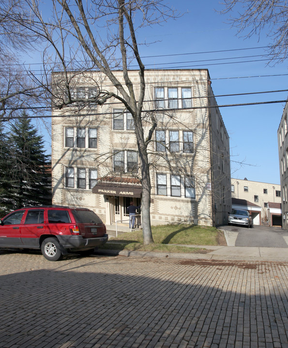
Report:
[[[0,254],[0,347],[288,347],[288,263]]]

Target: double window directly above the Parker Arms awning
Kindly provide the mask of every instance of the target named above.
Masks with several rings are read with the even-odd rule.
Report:
[[[136,151],[114,150],[113,170],[120,173],[137,173],[138,157]]]

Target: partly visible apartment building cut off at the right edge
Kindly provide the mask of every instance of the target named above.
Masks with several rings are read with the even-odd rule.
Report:
[[[282,227],[288,230],[288,103],[286,103],[277,132],[280,166],[280,185],[282,191]]]

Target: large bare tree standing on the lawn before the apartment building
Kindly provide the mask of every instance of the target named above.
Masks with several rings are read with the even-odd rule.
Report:
[[[71,105],[80,108],[90,102],[103,105],[110,98],[115,98],[131,113],[140,159],[144,244],[152,243],[147,147],[156,120],[151,113],[151,129],[149,136],[145,137],[142,124],[145,66],[139,54],[136,33],[145,26],[159,24],[177,15],[163,0],[52,0],[50,14],[47,8],[42,11],[39,0],[23,1],[31,16],[27,18],[23,11],[23,16],[14,16],[14,21],[46,43],[43,51],[44,74],[40,78],[35,74],[32,81],[44,89],[46,100],[52,102],[52,107],[64,112]],[[137,64],[139,72],[136,87],[128,75],[132,61]],[[74,93],[73,88],[77,77],[81,79],[91,69],[108,78],[113,91],[102,90],[98,81],[98,92],[84,100]],[[115,76],[115,69],[122,71],[121,81]],[[60,74],[52,74],[56,70]]]

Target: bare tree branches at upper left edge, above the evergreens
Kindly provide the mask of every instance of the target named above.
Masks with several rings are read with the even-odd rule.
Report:
[[[31,20],[23,0],[0,0],[0,117],[10,119],[20,109],[39,103],[42,89],[20,63],[20,55],[33,51],[39,36],[22,26]]]

